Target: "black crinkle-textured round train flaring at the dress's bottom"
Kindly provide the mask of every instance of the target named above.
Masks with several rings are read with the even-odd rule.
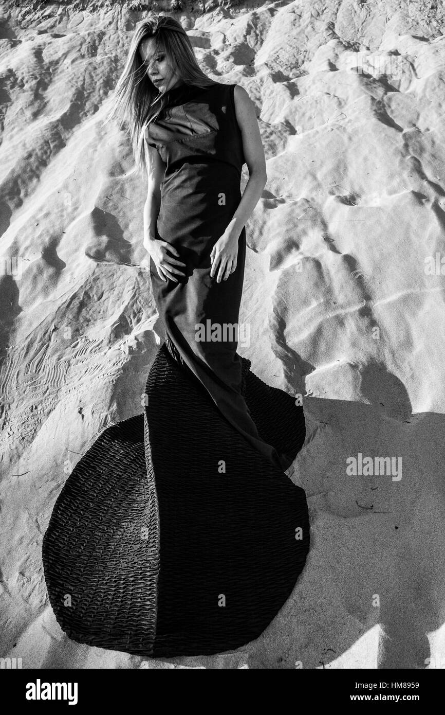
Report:
[[[242,363],[261,438],[296,455],[303,408]],[[69,638],[156,658],[258,638],[308,551],[304,490],[221,416],[164,343],[144,413],[106,428],[67,478],[42,558]]]

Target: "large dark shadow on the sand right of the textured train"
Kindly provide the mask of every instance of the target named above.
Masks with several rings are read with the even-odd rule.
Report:
[[[304,395],[309,366],[289,345],[277,352],[287,391]],[[434,659],[426,634],[445,621],[445,417],[412,414],[383,364],[358,373],[369,404],[303,398],[292,479],[306,491],[311,551],[264,639],[247,646],[249,667],[422,669]],[[372,470],[360,473],[366,457]]]

